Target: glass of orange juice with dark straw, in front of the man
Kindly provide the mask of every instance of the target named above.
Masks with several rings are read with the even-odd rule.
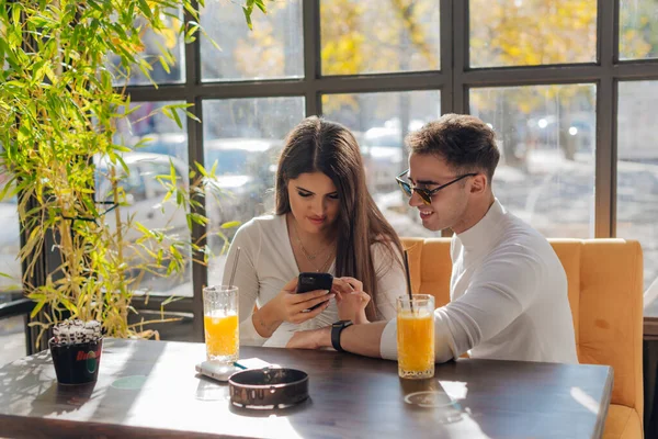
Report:
[[[434,296],[397,299],[398,374],[422,380],[434,376]]]

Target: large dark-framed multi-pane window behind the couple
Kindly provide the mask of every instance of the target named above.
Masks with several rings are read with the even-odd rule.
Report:
[[[206,167],[217,162],[222,183],[206,201],[211,223],[195,232],[196,238],[208,233],[216,254],[235,234],[223,223],[273,207],[276,154],[287,131],[313,114],[354,132],[368,187],[400,234],[435,236],[392,177],[406,168],[405,134],[444,113],[470,113],[497,133],[502,160],[494,188],[514,214],[547,237],[639,239],[645,289],[655,291],[658,0],[266,5],[266,15],[254,11],[250,31],[239,2],[206,1],[201,23],[222,49],[200,36],[183,50],[173,38],[175,72],[156,78],[164,86],[133,87],[144,83],[137,77],[127,89],[144,105],[141,116],[166,102],[195,103],[190,111],[201,124],[188,121],[181,131],[167,119],[136,114],[120,132],[126,142],[152,138],[140,153],[172,157],[181,168],[201,158]],[[148,176],[158,171],[139,172],[150,203],[157,188]],[[155,204],[144,212],[158,211]],[[181,284],[152,288],[194,295],[180,307],[201,315],[197,295],[220,282],[223,260],[218,255],[207,269],[191,270]],[[647,315],[658,316],[657,306]]]

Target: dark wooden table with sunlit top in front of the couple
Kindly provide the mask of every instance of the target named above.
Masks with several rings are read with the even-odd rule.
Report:
[[[302,369],[310,398],[257,412],[232,407],[226,384],[195,374],[203,344],[105,340],[99,381],[58,385],[48,352],[0,369],[0,437],[598,438],[612,370],[494,360],[436,367],[406,381],[397,363],[333,351],[242,348],[241,358]],[[417,392],[454,404],[405,402]],[[413,397],[410,398],[415,401]]]

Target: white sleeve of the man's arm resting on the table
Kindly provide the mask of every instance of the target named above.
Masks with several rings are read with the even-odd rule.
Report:
[[[501,247],[481,264],[465,294],[434,311],[434,357],[457,359],[508,327],[534,300],[542,263],[520,245]],[[382,358],[397,359],[397,325],[390,320],[379,342]]]

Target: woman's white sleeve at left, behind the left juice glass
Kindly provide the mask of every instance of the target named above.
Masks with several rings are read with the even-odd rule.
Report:
[[[260,245],[260,227],[258,223],[251,221],[245,224],[234,237],[226,258],[226,266],[224,267],[224,283],[228,283],[239,247],[240,256],[238,258],[238,266],[236,267],[234,284],[238,288],[239,330],[240,345],[242,346],[262,346],[266,340],[266,338],[258,334],[252,320],[253,307],[260,289],[257,270]]]

